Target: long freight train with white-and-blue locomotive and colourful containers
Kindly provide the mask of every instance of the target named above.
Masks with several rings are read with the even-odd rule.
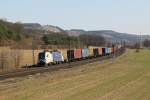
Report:
[[[53,65],[60,63],[68,63],[73,61],[79,61],[84,59],[92,59],[101,56],[114,55],[115,53],[123,50],[122,45],[113,47],[88,47],[83,49],[72,50],[44,50],[38,55],[38,65]]]

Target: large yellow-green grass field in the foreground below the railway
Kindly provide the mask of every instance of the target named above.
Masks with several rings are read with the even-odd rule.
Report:
[[[0,81],[0,100],[150,100],[150,51]]]

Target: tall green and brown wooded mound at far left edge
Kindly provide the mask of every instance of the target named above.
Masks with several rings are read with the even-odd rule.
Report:
[[[0,20],[0,45],[13,44],[21,41],[25,36],[22,24]]]

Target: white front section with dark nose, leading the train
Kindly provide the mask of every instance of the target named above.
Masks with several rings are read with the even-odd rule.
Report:
[[[38,64],[39,65],[47,65],[53,62],[52,53],[49,51],[43,51],[38,55]]]

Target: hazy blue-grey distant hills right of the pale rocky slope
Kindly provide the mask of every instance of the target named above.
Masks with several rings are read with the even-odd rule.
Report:
[[[84,31],[84,30],[67,30],[69,35],[78,36],[80,34],[101,35],[109,42],[126,41],[128,44],[135,44],[139,41],[140,36],[135,34],[120,33],[112,30]],[[148,35],[142,35],[142,40],[149,38]]]

